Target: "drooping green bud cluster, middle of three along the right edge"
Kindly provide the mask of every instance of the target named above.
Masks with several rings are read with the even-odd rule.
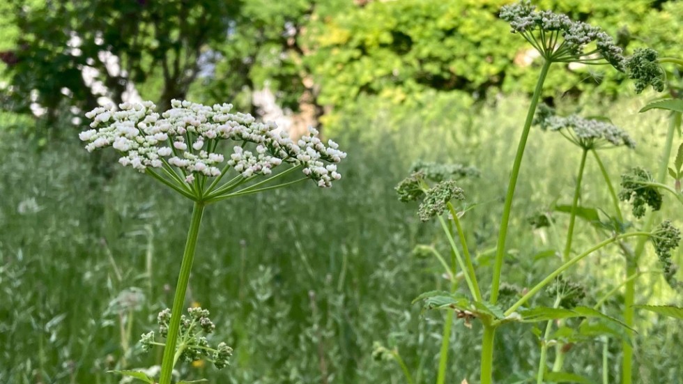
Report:
[[[647,183],[652,183],[652,175],[640,167],[635,167],[629,173],[622,175],[622,190],[619,192],[619,199],[632,200],[633,213],[638,218],[645,215],[645,205],[650,206],[652,210],[661,208],[661,192]]]

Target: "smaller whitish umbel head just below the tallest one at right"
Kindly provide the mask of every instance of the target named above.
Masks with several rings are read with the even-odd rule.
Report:
[[[636,148],[636,141],[616,125],[577,115],[557,116],[553,109],[545,105],[539,106],[534,123],[542,130],[560,132],[562,136],[585,150],[610,145]]]

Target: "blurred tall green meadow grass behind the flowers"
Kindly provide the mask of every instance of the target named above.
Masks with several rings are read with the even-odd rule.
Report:
[[[505,98],[464,109],[441,102],[441,115],[415,110],[400,120],[390,109],[361,109],[339,123],[348,127],[335,138],[348,159],[332,189],[300,185],[209,206],[187,304],[211,310],[235,355],[224,371],[196,364],[185,376],[221,384],[403,383],[397,367],[372,360],[372,344],[381,341],[398,347],[416,383],[433,383],[443,314],[421,314],[410,301],[447,289],[447,281],[436,263],[410,251],[419,243],[442,251],[447,245],[437,223],[421,224],[393,187],[417,158],[479,167],[481,178],[462,186],[470,201],[483,204],[463,220],[477,263],[492,263],[497,229],[491,223],[500,216],[514,155],[509,143],[519,135],[527,103]],[[585,114],[604,110],[585,105]],[[624,114],[614,123],[647,150],[605,153],[615,181],[630,164],[654,170],[654,144],[666,132],[663,114],[638,115],[637,102],[616,107]],[[141,355],[136,342],[172,300],[191,204],[118,167],[112,153],[102,153],[98,164],[107,165],[98,167],[75,141],[35,151],[10,132],[0,138],[0,383],[112,384],[118,378],[107,369],[158,364],[160,353]],[[553,246],[552,234],[529,231],[524,218],[555,201],[569,203],[580,155],[559,135],[532,130],[503,281],[530,286],[534,270],[550,269],[554,259],[535,262],[533,256]],[[585,205],[610,206],[600,183],[599,169],[589,162]],[[673,201],[666,207],[663,216],[674,217]],[[566,225],[567,217],[555,217]],[[596,239],[577,222],[576,249]],[[649,252],[643,269],[655,270]],[[620,266],[607,249],[573,275],[590,276],[594,291],[605,293],[621,278]],[[486,285],[490,278],[484,277]],[[641,286],[650,291],[637,302],[673,302],[658,275],[645,278],[652,284]],[[121,296],[132,287],[136,294]],[[636,371],[643,383],[650,377],[676,382],[683,371],[675,343],[683,332],[673,321],[639,315]],[[539,348],[530,330],[514,325],[496,338],[497,383],[535,376]],[[480,332],[476,323],[472,330],[454,325],[447,382],[475,383]],[[611,340],[608,351],[617,353],[618,344]],[[125,356],[122,345],[128,346]],[[667,345],[670,354],[662,348]],[[567,369],[597,380],[601,353],[599,342],[575,346]],[[619,360],[609,358],[616,377]]]

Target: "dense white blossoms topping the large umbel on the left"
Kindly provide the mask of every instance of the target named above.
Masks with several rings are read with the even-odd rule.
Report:
[[[268,175],[283,162],[302,166],[302,172],[319,187],[330,187],[339,180],[337,163],[346,158],[334,141],[325,146],[309,129],[297,143],[277,131],[275,123],[259,123],[250,114],[231,113],[232,105],[208,107],[189,101],[173,100],[171,109],[158,114],[153,102],[123,103],[118,111],[98,107],[86,114],[91,130],[81,132],[86,149],[112,146],[122,153],[119,162],[141,172],[164,164],[177,167],[192,183],[195,175],[220,176],[224,155],[217,152],[217,141],[236,142],[227,165],[245,178]],[[255,153],[245,149],[256,145]],[[331,163],[331,164],[330,164]]]

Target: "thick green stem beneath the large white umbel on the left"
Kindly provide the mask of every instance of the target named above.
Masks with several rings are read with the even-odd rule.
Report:
[[[190,230],[187,231],[187,241],[185,243],[185,252],[183,252],[181,272],[178,275],[178,284],[176,284],[176,295],[174,296],[173,307],[171,308],[171,323],[169,324],[169,333],[166,339],[166,346],[164,347],[164,358],[162,359],[161,364],[161,378],[159,379],[159,384],[171,384],[171,371],[173,371],[176,341],[178,340],[181,314],[183,314],[183,305],[185,304],[185,291],[187,291],[187,283],[190,282],[190,271],[192,270],[192,262],[194,261],[194,248],[197,247],[199,224],[201,224],[201,215],[203,213],[204,202],[195,201],[194,209],[192,210]]]

